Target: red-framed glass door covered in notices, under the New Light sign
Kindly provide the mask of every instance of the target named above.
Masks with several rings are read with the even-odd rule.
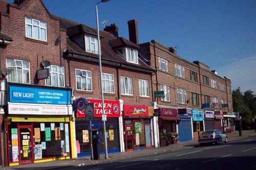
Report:
[[[18,126],[19,163],[33,162],[32,126]]]

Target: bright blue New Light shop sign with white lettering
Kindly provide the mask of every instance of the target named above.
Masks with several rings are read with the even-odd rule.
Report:
[[[71,91],[10,86],[10,102],[70,105]]]

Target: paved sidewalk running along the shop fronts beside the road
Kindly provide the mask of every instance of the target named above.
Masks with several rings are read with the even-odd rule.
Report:
[[[242,136],[239,136],[239,132],[228,133],[228,142],[235,141],[239,139],[246,138],[248,136],[256,136],[255,130],[246,130],[242,131]],[[17,166],[8,166],[2,167],[1,169],[26,169],[26,170],[33,170],[33,169],[58,169],[61,167],[75,167],[75,166],[85,166],[85,165],[93,165],[93,164],[101,164],[101,163],[111,163],[118,160],[124,159],[131,159],[134,157],[143,157],[146,155],[158,154],[163,153],[166,151],[178,151],[178,150],[187,150],[194,147],[198,147],[197,140],[191,140],[186,142],[181,142],[178,144],[172,144],[168,147],[159,147],[159,148],[149,148],[145,150],[133,151],[133,152],[118,152],[118,153],[109,153],[108,159],[105,159],[105,155],[100,155],[100,160],[90,160],[90,156],[86,157],[79,157],[67,160],[57,160],[57,161],[50,161],[50,162],[42,162],[42,163],[30,163],[30,164],[23,164]]]

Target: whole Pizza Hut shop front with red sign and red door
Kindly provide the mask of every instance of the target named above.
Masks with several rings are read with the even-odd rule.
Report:
[[[125,151],[152,147],[153,112],[153,106],[123,106]]]

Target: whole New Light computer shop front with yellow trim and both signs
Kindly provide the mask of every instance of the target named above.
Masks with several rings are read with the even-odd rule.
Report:
[[[70,89],[9,84],[6,119],[8,165],[71,158]]]

